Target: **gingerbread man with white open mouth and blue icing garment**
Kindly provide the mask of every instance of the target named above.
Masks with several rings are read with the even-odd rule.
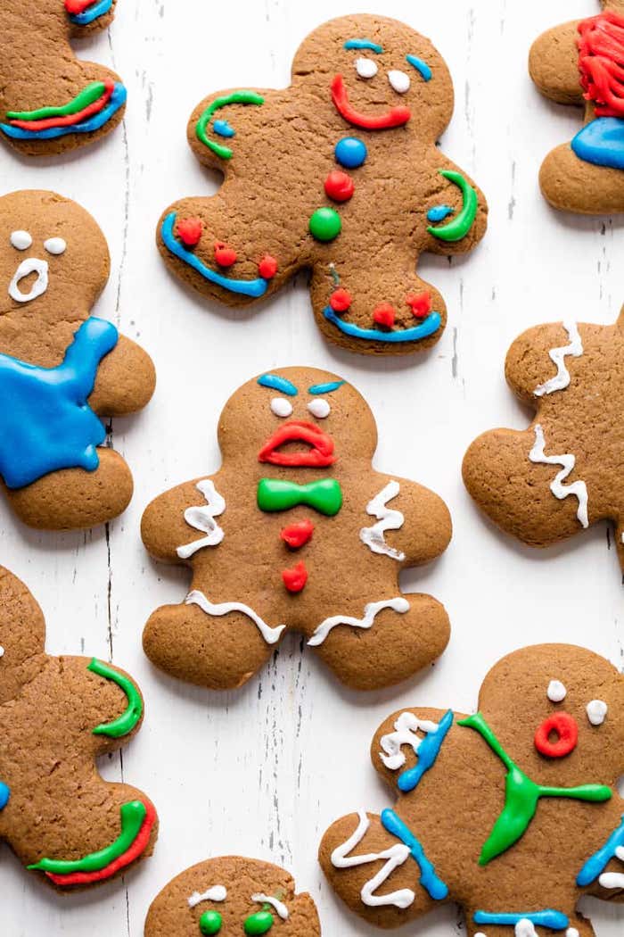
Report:
[[[91,315],[109,248],[80,205],[12,192],[0,229],[0,484],[31,527],[90,528],[121,513],[133,489],[99,417],[148,403],[152,360]]]

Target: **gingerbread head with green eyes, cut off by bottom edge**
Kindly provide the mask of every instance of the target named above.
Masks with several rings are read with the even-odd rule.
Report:
[[[145,937],[320,937],[312,898],[278,866],[225,855],[181,872],[152,901]]]

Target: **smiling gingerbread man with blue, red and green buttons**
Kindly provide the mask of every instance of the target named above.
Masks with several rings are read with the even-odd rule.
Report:
[[[436,147],[452,111],[427,38],[378,16],[325,23],[300,46],[289,88],[217,92],[196,107],[191,148],[225,182],[167,208],[167,266],[226,305],[309,268],[328,341],[369,354],[430,347],[446,311],[418,257],[471,250],[486,231],[483,195]]]

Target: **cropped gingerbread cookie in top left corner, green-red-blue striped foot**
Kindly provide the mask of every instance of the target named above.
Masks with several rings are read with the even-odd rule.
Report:
[[[70,38],[112,22],[117,0],[6,0],[0,4],[0,136],[26,156],[98,140],[119,124],[118,75],[74,55]]]

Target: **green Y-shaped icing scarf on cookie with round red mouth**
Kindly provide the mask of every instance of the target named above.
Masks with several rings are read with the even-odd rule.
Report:
[[[490,749],[498,755],[502,764],[507,768],[505,806],[481,850],[480,866],[486,866],[525,834],[530,821],[535,816],[540,797],[573,797],[575,800],[602,803],[613,796],[611,788],[603,784],[582,784],[580,787],[543,787],[531,781],[502,748],[501,742],[480,712],[457,721],[457,725],[467,726],[483,736]]]

